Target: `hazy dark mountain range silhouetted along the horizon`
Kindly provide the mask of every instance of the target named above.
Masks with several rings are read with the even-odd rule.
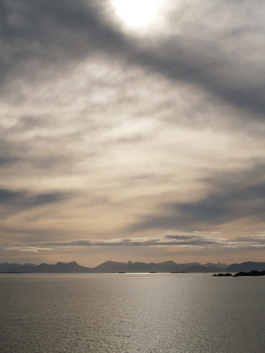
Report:
[[[116,262],[106,261],[96,267],[85,267],[78,265],[75,261],[64,263],[57,262],[55,265],[42,263],[35,265],[25,263],[20,265],[17,263],[1,263],[0,272],[19,272],[19,273],[170,273],[170,272],[187,272],[187,273],[201,273],[201,272],[249,272],[252,270],[265,270],[265,262],[242,262],[240,264],[234,263],[227,265],[218,262],[206,263],[201,265],[199,262],[177,264],[173,261],[166,261],[160,263],[144,263],[144,262]]]

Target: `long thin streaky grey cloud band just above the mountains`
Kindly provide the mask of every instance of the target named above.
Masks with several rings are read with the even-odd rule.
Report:
[[[78,239],[65,241],[44,241],[27,244],[3,244],[5,250],[32,251],[51,250],[48,247],[91,247],[91,246],[192,246],[197,249],[210,247],[211,249],[264,249],[264,234],[248,234],[242,238],[214,238],[208,232],[168,232],[160,238],[117,238],[117,239]],[[11,246],[12,245],[12,246]]]

